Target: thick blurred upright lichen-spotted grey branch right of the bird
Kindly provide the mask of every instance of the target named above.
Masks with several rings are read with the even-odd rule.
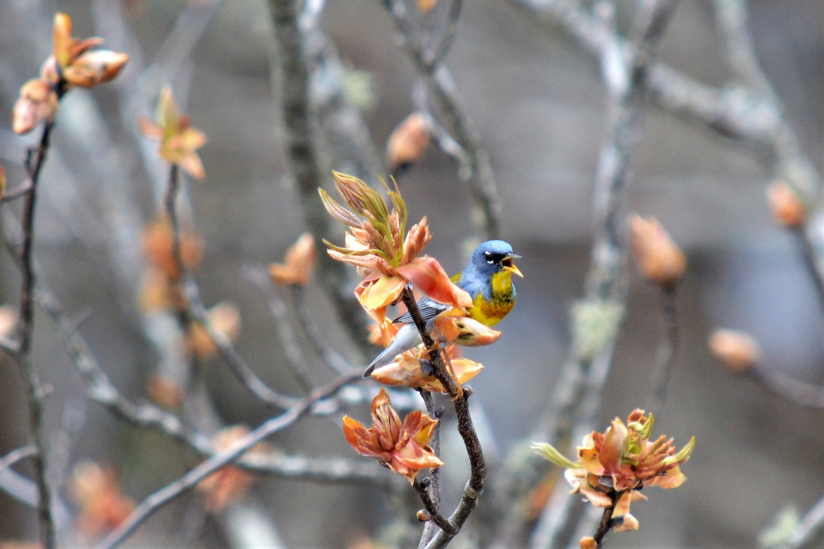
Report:
[[[597,309],[598,314],[609,314],[612,329],[597,349],[582,354],[580,349],[570,348],[553,398],[549,399],[540,425],[531,435],[533,440],[549,440],[550,444],[565,446],[573,439],[574,430],[585,431],[592,423],[611,369],[626,300],[627,269],[620,212],[631,181],[632,161],[648,98],[649,72],[677,2],[664,0],[645,5],[646,9],[639,12],[634,23],[632,48],[626,47],[616,32],[611,3],[597,2],[592,16],[575,8],[574,2],[548,3],[556,9],[562,4],[567,16],[574,14],[570,23],[575,29],[587,21],[588,33],[576,37],[587,40],[597,53],[607,92],[607,123],[593,188],[591,261],[586,296],[581,304]],[[573,340],[586,337],[590,335],[578,334]],[[537,471],[541,464],[536,459],[531,467]],[[570,501],[567,498],[562,505],[571,505]],[[555,517],[565,514],[564,509],[547,506],[539,528],[533,533],[532,547],[553,547],[555,537],[564,527]],[[513,505],[504,521],[508,526],[497,540],[499,547],[508,545],[526,527],[524,517],[518,505]]]

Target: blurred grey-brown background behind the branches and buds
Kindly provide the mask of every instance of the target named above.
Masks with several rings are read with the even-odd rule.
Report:
[[[616,4],[624,30],[634,2]],[[765,75],[803,151],[822,170],[824,4],[747,4]],[[239,351],[270,384],[299,393],[282,365],[283,344],[260,288],[246,276],[249,266],[279,261],[305,230],[285,177],[274,30],[265,4],[0,0],[0,112],[6,113],[0,117],[0,162],[9,187],[25,180],[22,159],[37,139],[36,132],[12,133],[12,107],[19,86],[36,76],[50,52],[57,11],[72,16],[75,35],[101,36],[107,47],[132,59],[118,80],[71,91],[60,107],[36,226],[44,284],[68,314],[82,319],[82,334],[115,385],[130,397],[147,398],[159,359],[138,307],[140,235],[157,213],[166,168],[152,156],[156,144],[136,133],[136,120],[152,115],[160,86],[169,84],[181,109],[208,135],[200,150],[207,177],[185,184],[185,217],[204,241],[197,272],[204,301],[232,301],[241,312]],[[320,25],[338,50],[349,97],[363,108],[382,155],[392,129],[416,106],[418,78],[397,45],[395,26],[381,2],[365,0],[326,2]],[[730,82],[708,2],[681,2],[660,58],[710,85]],[[545,407],[569,347],[569,306],[582,295],[589,264],[592,181],[606,97],[592,55],[559,28],[537,25],[512,2],[465,2],[446,63],[489,152],[503,203],[503,238],[523,256],[517,307],[498,327],[503,337],[468,352],[486,366],[471,385],[494,439],[487,446],[492,479],[495,463],[529,434]],[[797,241],[771,219],[765,188],[774,174],[757,153],[658,107],[646,113],[626,212],[657,216],[688,261],[677,294],[681,345],[656,432],[679,445],[695,435],[697,444],[684,467],[686,484],[651,490],[650,502],[633,507],[639,532],[611,534],[610,547],[754,547],[780,509],[793,505],[803,512],[824,494],[824,461],[818,458],[824,454],[824,413],[729,374],[706,345],[716,327],[742,329],[761,342],[765,366],[824,384],[822,303]],[[373,175],[376,184],[385,176]],[[476,233],[470,190],[455,161],[429,147],[399,181],[410,218],[428,216],[434,234],[428,253],[447,272],[460,270]],[[324,184],[329,188],[331,178]],[[16,211],[4,206],[2,213]],[[18,273],[10,258],[0,264],[2,300],[16,304]],[[316,287],[307,295],[317,322],[340,351],[363,360],[326,321],[328,304]],[[629,292],[601,402],[601,429],[644,405],[664,331],[660,292],[635,272]],[[63,498],[69,472],[83,459],[112,465],[124,492],[138,501],[196,463],[164,436],[129,426],[90,402],[42,312],[34,356],[52,389],[49,474]],[[218,359],[204,361],[199,375],[225,424],[255,426],[269,416]],[[24,398],[14,365],[0,363],[0,454],[26,443]],[[349,414],[365,421],[368,407]],[[353,457],[338,424],[328,419],[305,421],[270,442],[293,453]],[[452,451],[448,437],[444,444],[445,452]],[[456,447],[454,453],[463,451]],[[25,465],[16,470],[27,472]],[[445,474],[452,480],[452,473]],[[460,470],[454,477],[447,502],[466,478]],[[199,510],[198,497],[185,495],[162,509],[130,543],[240,547],[223,519]],[[354,538],[381,531],[393,502],[368,486],[263,477],[242,505],[266,509],[285,547],[354,547]],[[0,540],[35,537],[35,513],[3,492],[0,517]]]

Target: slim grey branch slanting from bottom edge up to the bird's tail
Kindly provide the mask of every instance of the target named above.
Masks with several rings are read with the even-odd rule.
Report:
[[[184,494],[185,491],[189,491],[219,468],[235,462],[255,444],[274,435],[274,433],[279,430],[292,426],[296,421],[310,413],[316,402],[334,396],[340,388],[356,381],[358,376],[358,373],[342,376],[331,381],[329,384],[316,388],[308,394],[306,398],[302,398],[300,402],[297,402],[295,406],[290,407],[286,412],[265,421],[255,430],[250,431],[248,435],[237,440],[236,443],[232,444],[229,448],[200,463],[175,482],[171,482],[160,490],[152,493],[152,495],[149,495],[134,509],[132,514],[129,514],[129,517],[120,523],[109,535],[104,537],[103,540],[96,545],[96,549],[110,549],[111,547],[118,546],[134,533],[146,519],[152,516],[152,514],[155,514],[164,505],[171,502],[171,500]]]

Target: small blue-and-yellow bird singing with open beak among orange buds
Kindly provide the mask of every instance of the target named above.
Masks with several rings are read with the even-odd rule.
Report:
[[[514,260],[520,257],[513,252],[512,244],[503,240],[487,240],[475,248],[466,267],[452,277],[452,282],[472,297],[472,306],[466,311],[471,321],[450,322],[448,325],[445,322],[441,323],[442,327],[439,328],[442,328],[441,332],[447,335],[447,341],[472,347],[487,345],[498,339],[499,332],[482,328],[484,326],[491,328],[513,309],[516,292],[512,275],[523,277],[514,263]],[[451,307],[424,296],[418,301],[418,309],[426,323],[427,331],[431,331],[436,327],[439,315]],[[410,313],[402,314],[392,322],[403,325],[389,347],[376,356],[375,360],[364,370],[364,378],[372,375],[372,371],[376,368],[391,364],[402,352],[417,347],[421,343],[420,333]],[[482,326],[472,322],[480,323]],[[492,333],[497,335],[493,336]]]

